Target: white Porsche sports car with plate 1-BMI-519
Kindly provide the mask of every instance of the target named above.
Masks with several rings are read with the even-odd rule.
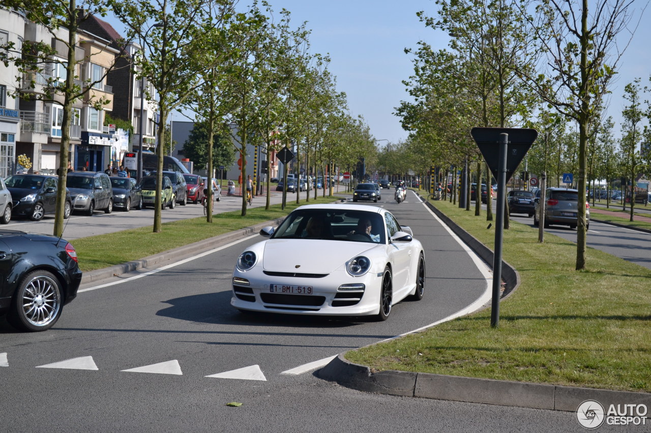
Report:
[[[386,209],[305,205],[266,227],[238,258],[230,304],[240,311],[374,315],[424,291],[422,245]]]

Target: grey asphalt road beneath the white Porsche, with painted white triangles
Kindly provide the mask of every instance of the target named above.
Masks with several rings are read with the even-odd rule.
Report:
[[[373,395],[320,380],[309,367],[289,374],[444,319],[485,293],[483,265],[409,194],[400,205],[389,198],[378,205],[426,248],[421,302],[398,304],[386,322],[242,315],[229,305],[230,272],[258,236],[115,285],[85,287],[48,332],[0,326],[0,430],[581,431],[574,413]],[[208,377],[215,374],[225,377]]]

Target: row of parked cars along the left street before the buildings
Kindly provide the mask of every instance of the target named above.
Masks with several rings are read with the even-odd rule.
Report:
[[[188,183],[186,177],[193,183]],[[45,174],[14,174],[0,179],[0,222],[12,217],[41,220],[57,209],[59,177]],[[195,174],[163,171],[161,207],[173,209],[187,200],[201,202],[206,179]],[[213,194],[219,201],[221,189],[213,179]],[[92,216],[96,211],[113,212],[114,208],[130,211],[153,206],[156,197],[156,174],[145,176],[140,183],[131,177],[108,176],[103,172],[70,172],[66,179],[66,203],[63,217],[72,212]]]

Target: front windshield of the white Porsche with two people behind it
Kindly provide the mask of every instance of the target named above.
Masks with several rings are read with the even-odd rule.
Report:
[[[271,239],[326,239],[383,244],[386,235],[381,215],[376,212],[298,209],[285,218]]]

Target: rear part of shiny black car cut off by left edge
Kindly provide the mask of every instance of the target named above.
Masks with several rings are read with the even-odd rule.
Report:
[[[59,237],[0,230],[0,254],[0,315],[20,330],[51,328],[81,283],[75,248]]]

